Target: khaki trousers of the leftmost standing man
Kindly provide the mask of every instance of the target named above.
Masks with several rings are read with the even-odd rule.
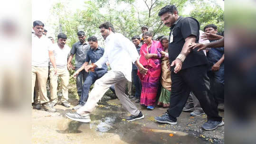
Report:
[[[47,98],[47,90],[46,83],[48,78],[48,67],[38,67],[32,66],[31,69],[31,77],[32,77],[32,103],[34,102],[34,88],[35,84],[38,85],[40,101],[41,103],[46,103],[49,101]],[[38,83],[36,83],[36,79]]]

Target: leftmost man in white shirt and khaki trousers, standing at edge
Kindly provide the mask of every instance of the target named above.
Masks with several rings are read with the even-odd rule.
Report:
[[[32,103],[34,102],[34,88],[38,85],[42,107],[48,112],[56,112],[47,98],[46,82],[48,78],[49,48],[52,45],[43,35],[44,24],[36,20],[33,22],[32,45],[31,45],[31,77],[32,77]],[[36,83],[38,79],[38,83]]]

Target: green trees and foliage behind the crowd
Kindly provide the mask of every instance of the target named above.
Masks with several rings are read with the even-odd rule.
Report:
[[[110,21],[117,32],[127,38],[141,34],[141,27],[146,25],[152,31],[153,36],[168,36],[170,29],[165,27],[158,16],[159,10],[165,5],[176,5],[179,15],[182,15],[187,4],[194,4],[195,8],[190,12],[190,17],[199,20],[201,29],[208,24],[218,26],[218,31],[224,30],[224,11],[214,2],[215,0],[89,0],[85,1],[85,9],[75,13],[68,11],[68,4],[63,1],[53,5],[51,9],[52,21],[50,25],[55,29],[55,36],[63,32],[68,36],[67,45],[78,41],[76,33],[85,31],[85,35],[97,36],[101,46],[104,46],[98,26],[104,21]],[[140,5],[138,3],[140,2]],[[183,16],[183,15],[182,15]],[[56,38],[57,39],[57,38]],[[72,64],[75,65],[73,57]],[[73,75],[75,71],[70,71]],[[70,83],[76,83],[76,79],[70,76]]]

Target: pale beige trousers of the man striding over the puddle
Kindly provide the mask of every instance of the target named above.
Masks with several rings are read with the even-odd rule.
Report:
[[[104,93],[110,86],[114,85],[116,96],[123,105],[123,108],[131,115],[138,116],[140,111],[125,94],[126,81],[122,72],[107,72],[103,77],[95,81],[94,88],[89,93],[87,102],[83,107],[77,109],[76,112],[82,116],[89,115],[95,109],[96,103],[103,97]]]

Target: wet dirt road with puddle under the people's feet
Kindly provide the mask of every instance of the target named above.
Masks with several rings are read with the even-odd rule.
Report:
[[[69,99],[76,105],[76,99]],[[202,131],[200,126],[206,115],[191,117],[182,112],[178,124],[160,124],[154,117],[161,116],[166,108],[152,111],[136,104],[144,119],[127,122],[129,114],[118,99],[99,103],[91,115],[90,123],[76,122],[65,116],[75,112],[57,105],[57,112],[32,110],[32,144],[213,144],[224,143],[224,126],[214,131]],[[224,117],[224,112],[220,115]]]

